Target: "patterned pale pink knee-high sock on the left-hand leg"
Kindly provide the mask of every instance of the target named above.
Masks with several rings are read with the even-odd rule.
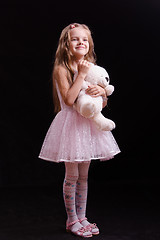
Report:
[[[75,190],[77,176],[67,175],[63,183],[63,196],[68,216],[68,222],[77,220],[76,206],[75,206]]]

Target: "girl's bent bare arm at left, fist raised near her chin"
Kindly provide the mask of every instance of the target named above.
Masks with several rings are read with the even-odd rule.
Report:
[[[89,68],[90,64],[85,60],[78,64],[78,75],[72,86],[68,83],[67,71],[63,66],[57,66],[54,70],[55,79],[66,105],[72,106],[74,104]]]

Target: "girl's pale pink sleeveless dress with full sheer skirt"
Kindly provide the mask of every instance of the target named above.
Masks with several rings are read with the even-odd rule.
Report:
[[[52,162],[109,160],[120,152],[110,131],[98,130],[92,120],[67,106],[57,89],[61,111],[44,139],[39,158]]]

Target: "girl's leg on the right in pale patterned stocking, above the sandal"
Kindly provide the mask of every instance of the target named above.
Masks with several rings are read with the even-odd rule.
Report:
[[[76,210],[79,219],[84,219],[86,216],[87,193],[88,193],[88,171],[90,162],[80,163],[78,165],[79,177],[76,187]],[[83,221],[83,225],[87,226],[89,222]]]

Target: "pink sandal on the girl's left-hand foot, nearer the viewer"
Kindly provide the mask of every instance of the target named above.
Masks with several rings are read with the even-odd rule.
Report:
[[[80,237],[92,237],[92,233],[90,232],[89,228],[86,228],[86,227],[81,227],[80,229],[78,229],[77,231],[71,231],[71,227],[77,223],[77,222],[80,222],[79,220],[76,220],[74,222],[71,222],[71,223],[67,223],[66,222],[66,231],[67,232],[70,232],[70,233],[73,233],[74,235],[76,236],[80,236]]]

